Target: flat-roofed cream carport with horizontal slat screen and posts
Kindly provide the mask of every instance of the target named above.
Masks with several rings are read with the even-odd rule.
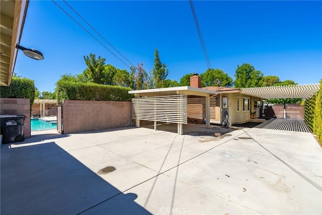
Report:
[[[158,88],[149,90],[129,91],[134,94],[132,99],[132,119],[136,120],[136,127],[140,120],[156,122],[171,122],[178,124],[178,134],[183,134],[183,124],[187,124],[188,96],[201,96],[206,100],[206,127],[210,127],[210,98],[218,94],[216,91],[194,88],[189,86]]]

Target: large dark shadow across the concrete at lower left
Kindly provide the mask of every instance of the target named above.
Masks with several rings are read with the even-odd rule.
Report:
[[[14,147],[1,146],[1,214],[150,214],[55,142]]]

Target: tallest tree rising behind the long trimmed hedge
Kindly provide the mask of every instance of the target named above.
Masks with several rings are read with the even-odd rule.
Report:
[[[105,71],[105,58],[90,53],[89,56],[84,56],[85,63],[87,68],[84,70],[83,74],[86,77],[96,84],[105,84],[106,83],[106,73]],[[111,80],[109,80],[111,81]]]

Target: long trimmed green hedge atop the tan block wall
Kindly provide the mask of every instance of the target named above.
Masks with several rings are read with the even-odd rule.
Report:
[[[99,85],[59,81],[56,83],[56,99],[62,100],[95,100],[95,101],[131,101],[128,87]]]

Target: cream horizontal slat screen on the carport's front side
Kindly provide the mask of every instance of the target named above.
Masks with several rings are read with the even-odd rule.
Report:
[[[187,124],[187,95],[132,99],[132,119]]]

